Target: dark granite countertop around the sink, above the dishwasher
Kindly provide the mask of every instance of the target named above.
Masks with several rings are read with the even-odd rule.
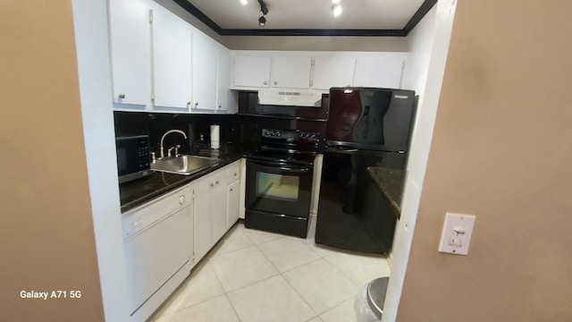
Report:
[[[202,177],[205,174],[210,174],[214,170],[220,169],[225,165],[230,165],[232,162],[239,160],[241,154],[229,154],[221,157],[218,165],[198,172],[197,174],[183,175],[183,174],[166,174],[154,171],[151,175],[133,181],[122,183],[119,186],[119,199],[121,202],[122,213],[136,208],[147,201],[156,199],[169,191],[173,191],[195,179]]]

